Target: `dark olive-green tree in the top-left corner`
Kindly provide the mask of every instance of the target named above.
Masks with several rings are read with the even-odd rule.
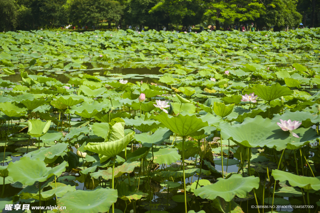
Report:
[[[13,0],[0,0],[0,31],[14,30],[17,8]]]

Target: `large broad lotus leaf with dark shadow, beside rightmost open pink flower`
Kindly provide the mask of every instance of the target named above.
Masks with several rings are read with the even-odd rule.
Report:
[[[223,139],[232,139],[246,147],[264,147],[283,150],[290,142],[290,135],[269,118],[245,118],[242,124],[221,127]]]

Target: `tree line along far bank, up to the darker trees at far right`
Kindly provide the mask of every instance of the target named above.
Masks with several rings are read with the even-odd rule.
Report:
[[[300,0],[302,1],[302,0]],[[314,0],[315,1],[315,0]],[[76,29],[178,29],[180,25],[229,25],[254,23],[262,30],[287,25],[298,27],[302,12],[297,12],[295,0],[1,0],[0,31],[60,28],[69,24]],[[284,6],[285,5],[285,6]],[[106,24],[108,23],[108,25]]]

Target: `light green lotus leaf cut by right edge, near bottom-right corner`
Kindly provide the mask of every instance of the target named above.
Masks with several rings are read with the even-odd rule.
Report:
[[[272,176],[275,180],[280,182],[289,181],[289,184],[293,187],[300,187],[306,190],[316,190],[320,189],[320,177],[305,177],[292,174],[290,172],[272,170]]]

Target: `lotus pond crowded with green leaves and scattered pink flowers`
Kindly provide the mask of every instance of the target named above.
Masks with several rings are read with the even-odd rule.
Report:
[[[317,211],[319,31],[0,33],[0,209]]]

